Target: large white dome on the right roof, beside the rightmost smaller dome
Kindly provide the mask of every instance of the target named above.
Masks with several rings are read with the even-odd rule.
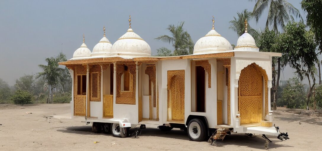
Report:
[[[194,54],[216,53],[227,50],[232,50],[232,45],[214,29],[200,38],[194,45]]]

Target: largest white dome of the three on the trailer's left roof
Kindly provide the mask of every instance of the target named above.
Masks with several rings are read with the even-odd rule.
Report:
[[[111,55],[137,55],[151,56],[151,48],[139,35],[133,32],[132,29],[118,38],[113,44]]]

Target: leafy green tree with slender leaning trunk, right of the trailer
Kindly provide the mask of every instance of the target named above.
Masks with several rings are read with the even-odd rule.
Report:
[[[309,102],[315,86],[315,74],[317,55],[315,52],[316,43],[312,31],[305,29],[303,22],[289,21],[285,27],[285,33],[280,34],[276,43],[276,49],[282,50],[281,63],[289,64],[295,69],[300,80],[308,78],[309,91],[306,105],[309,109]]]

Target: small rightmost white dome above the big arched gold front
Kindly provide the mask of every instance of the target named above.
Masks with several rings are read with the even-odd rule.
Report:
[[[235,51],[259,51],[255,39],[247,32],[243,33],[237,40]]]

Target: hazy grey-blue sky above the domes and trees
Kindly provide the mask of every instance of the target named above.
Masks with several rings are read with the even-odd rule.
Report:
[[[301,0],[289,1],[301,9]],[[15,80],[24,74],[36,74],[41,70],[38,64],[46,64],[45,58],[63,51],[67,59],[85,43],[90,50],[103,37],[105,25],[107,38],[112,44],[128,29],[128,15],[131,14],[132,29],[151,47],[156,49],[171,45],[154,38],[169,34],[168,24],[185,21],[184,28],[194,42],[212,28],[231,44],[237,43],[237,34],[228,29],[229,21],[236,12],[244,9],[252,11],[255,2],[248,0],[162,0],[162,1],[80,1],[80,0],[0,0],[0,78],[14,85]],[[256,24],[249,21],[252,28],[263,29],[266,14]],[[63,45],[62,45],[63,43]],[[292,77],[291,69],[286,69],[281,80]]]

